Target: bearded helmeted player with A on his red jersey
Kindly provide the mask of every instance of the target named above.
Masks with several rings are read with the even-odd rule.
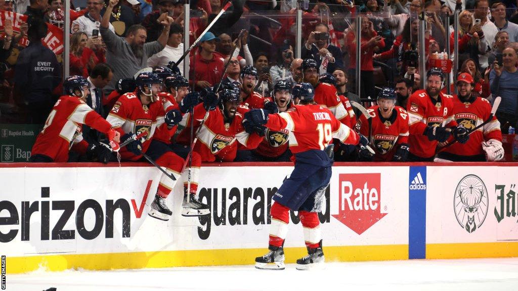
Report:
[[[437,144],[452,134],[460,143],[469,139],[466,128],[458,126],[453,117],[453,97],[440,92],[443,81],[442,71],[431,68],[426,73],[426,90],[415,91],[409,97],[410,162],[434,161]]]

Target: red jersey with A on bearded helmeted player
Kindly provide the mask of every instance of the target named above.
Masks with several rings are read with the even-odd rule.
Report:
[[[437,101],[426,90],[415,91],[407,102],[410,153],[429,158],[435,155],[437,141],[423,135],[426,126],[456,126],[453,118],[453,96],[439,93]]]

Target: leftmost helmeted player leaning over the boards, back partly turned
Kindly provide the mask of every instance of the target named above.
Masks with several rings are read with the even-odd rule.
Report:
[[[31,152],[31,162],[64,163],[68,151],[95,153],[97,159],[107,162],[111,151],[118,150],[120,134],[111,124],[97,114],[85,101],[90,94],[90,83],[81,76],[67,77],[63,83],[65,93],[61,96],[45,122]],[[110,144],[102,142],[88,144],[83,140],[81,127],[86,124],[107,135]]]

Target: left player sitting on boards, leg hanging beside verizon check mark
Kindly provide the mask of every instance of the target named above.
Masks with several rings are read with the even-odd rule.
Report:
[[[153,143],[152,140],[156,127],[175,126],[181,121],[182,114],[175,109],[164,112],[158,96],[162,81],[156,74],[142,72],[135,79],[135,83],[137,90],[126,93],[117,100],[108,115],[108,121],[124,135],[122,140],[130,137],[132,133],[147,133],[143,140],[132,142],[121,149],[120,154],[123,159],[138,161],[142,157],[142,152],[146,153],[156,164],[165,167],[165,171],[176,178],[172,180],[162,174],[148,213],[156,219],[167,221],[172,212],[167,207],[165,199],[174,188],[176,180],[180,178],[184,159],[172,152],[169,147],[161,147],[159,143]],[[204,214],[209,213],[208,206],[204,211]]]

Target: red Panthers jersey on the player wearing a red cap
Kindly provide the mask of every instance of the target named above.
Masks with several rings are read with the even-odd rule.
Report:
[[[472,130],[477,125],[483,123],[491,114],[491,104],[487,99],[481,97],[471,98],[467,102],[461,101],[456,95],[453,95],[453,113],[455,121],[458,125]],[[502,141],[502,132],[500,131],[500,122],[493,117],[491,122],[477,129],[476,132],[469,135],[468,142],[455,143],[451,147],[444,150],[451,154],[472,156],[484,154],[482,150],[482,141],[496,139]]]

